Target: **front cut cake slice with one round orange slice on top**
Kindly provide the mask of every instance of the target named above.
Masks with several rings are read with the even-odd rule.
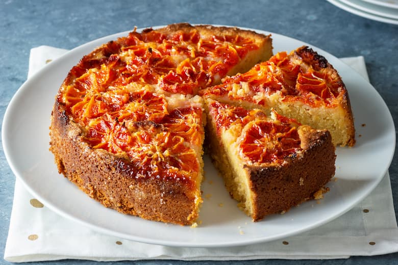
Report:
[[[254,221],[314,197],[335,173],[329,131],[271,110],[206,99],[210,153],[227,190]]]

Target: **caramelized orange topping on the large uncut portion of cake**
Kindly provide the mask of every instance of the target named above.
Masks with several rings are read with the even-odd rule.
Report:
[[[148,86],[196,94],[253,49],[254,41],[240,36],[134,30],[85,56],[70,70],[57,100],[92,148],[142,163],[137,177],[194,178],[200,171],[195,150],[203,142],[202,109],[188,104],[169,111],[166,97]]]

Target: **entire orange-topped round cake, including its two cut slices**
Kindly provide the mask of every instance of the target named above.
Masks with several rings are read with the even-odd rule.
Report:
[[[103,44],[56,96],[58,171],[121,213],[195,225],[206,134],[228,191],[254,221],[314,197],[334,174],[334,146],[355,143],[348,94],[308,47],[271,56],[269,35],[187,23]],[[272,140],[255,134],[259,124],[278,128]],[[275,159],[265,146],[279,148],[265,152]]]

